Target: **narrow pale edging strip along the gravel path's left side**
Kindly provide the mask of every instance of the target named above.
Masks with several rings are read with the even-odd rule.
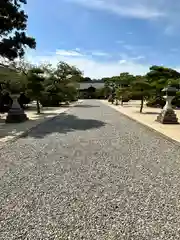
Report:
[[[74,107],[74,106],[80,104],[81,102],[83,102],[83,101],[80,100],[80,101],[77,101],[77,102],[75,102],[75,103],[71,103],[71,104],[69,104],[62,112],[57,113],[55,116],[49,117],[49,118],[47,118],[47,119],[43,119],[41,122],[37,123],[35,126],[29,127],[28,129],[26,129],[25,131],[21,132],[20,134],[17,134],[16,136],[13,136],[11,139],[9,139],[9,140],[7,140],[6,142],[4,142],[4,143],[2,144],[2,146],[0,146],[0,150],[1,150],[2,148],[4,148],[6,144],[10,144],[10,143],[12,143],[12,142],[15,142],[15,141],[17,141],[19,138],[26,137],[33,129],[35,129],[35,128],[38,127],[39,125],[41,125],[41,124],[43,124],[43,123],[45,123],[45,122],[48,122],[48,121],[52,121],[54,118],[56,118],[57,116],[61,115],[62,113],[65,113],[65,112],[69,111],[69,110],[70,110],[70,107]],[[61,108],[61,107],[60,107],[60,108]]]

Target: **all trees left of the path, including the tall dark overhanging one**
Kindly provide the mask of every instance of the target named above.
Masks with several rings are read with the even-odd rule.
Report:
[[[1,2],[1,1],[0,1]],[[78,97],[77,82],[82,73],[74,66],[59,62],[33,66],[23,61],[27,48],[35,49],[36,40],[26,33],[28,15],[26,0],[6,0],[0,3],[0,111],[12,105],[13,94],[18,94],[21,107],[31,100],[43,106],[58,106]],[[5,62],[8,63],[5,66]]]

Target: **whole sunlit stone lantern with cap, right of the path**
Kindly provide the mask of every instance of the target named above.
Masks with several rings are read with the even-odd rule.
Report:
[[[168,86],[167,88],[164,88],[162,92],[165,94],[164,99],[166,100],[166,105],[157,117],[157,121],[162,124],[178,124],[176,113],[171,105],[172,100],[176,96],[177,89],[175,87]]]

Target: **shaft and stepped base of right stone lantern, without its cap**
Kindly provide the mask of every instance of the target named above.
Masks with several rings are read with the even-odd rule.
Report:
[[[178,124],[178,118],[171,105],[174,96],[165,96],[164,98],[166,99],[166,105],[157,117],[157,121],[162,124]]]

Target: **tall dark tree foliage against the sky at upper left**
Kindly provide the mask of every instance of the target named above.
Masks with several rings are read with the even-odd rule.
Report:
[[[26,36],[28,16],[22,9],[26,0],[0,0],[0,56],[14,60],[22,57],[25,47],[36,47],[35,39]]]

